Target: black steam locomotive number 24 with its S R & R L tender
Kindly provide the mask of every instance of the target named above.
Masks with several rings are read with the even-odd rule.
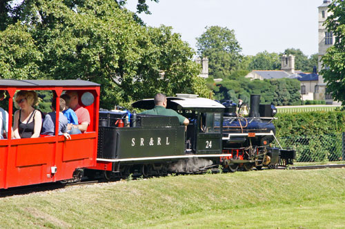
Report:
[[[153,100],[139,100],[132,106],[152,109],[154,104]],[[155,175],[193,173],[221,165],[236,171],[288,164],[294,159],[294,151],[270,146],[275,138],[273,117],[260,118],[255,101],[247,118],[239,116],[237,108],[229,110],[206,98],[168,98],[167,108],[190,120],[186,130],[177,117],[128,117],[128,113],[101,111],[94,169]],[[262,112],[274,113],[267,106]],[[117,124],[119,120],[123,127]]]

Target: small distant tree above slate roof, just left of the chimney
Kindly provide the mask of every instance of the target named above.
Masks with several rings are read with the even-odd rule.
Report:
[[[253,56],[248,66],[248,70],[277,70],[280,69],[279,54],[269,53],[266,50]]]

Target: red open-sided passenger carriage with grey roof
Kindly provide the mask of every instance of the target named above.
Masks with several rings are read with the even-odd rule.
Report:
[[[96,165],[99,85],[84,80],[0,80],[0,90],[9,95],[8,136],[13,123],[13,97],[17,90],[48,90],[56,99],[59,127],[59,98],[65,90],[76,90],[79,105],[88,109],[90,125],[86,133],[71,135],[66,140],[63,135],[41,136],[40,138],[0,140],[0,188],[25,186],[45,182],[72,179],[78,168]]]

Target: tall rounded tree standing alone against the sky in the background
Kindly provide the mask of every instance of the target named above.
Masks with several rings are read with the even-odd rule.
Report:
[[[209,75],[226,78],[242,60],[241,47],[235,38],[235,31],[220,26],[206,27],[206,32],[197,38],[197,52],[201,58],[208,58]]]

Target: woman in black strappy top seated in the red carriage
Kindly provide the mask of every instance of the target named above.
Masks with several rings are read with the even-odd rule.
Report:
[[[18,91],[14,96],[14,138],[38,138],[42,127],[41,112],[32,105],[37,104],[38,96],[34,91]]]

